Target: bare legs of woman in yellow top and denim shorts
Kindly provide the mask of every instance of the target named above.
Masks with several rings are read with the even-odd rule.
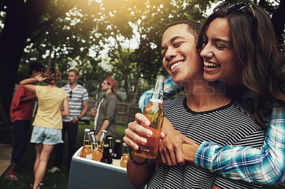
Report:
[[[43,144],[42,146],[36,145],[36,162],[33,170],[35,171],[35,182],[33,183],[33,189],[38,188],[38,185],[41,183],[41,180],[43,180],[43,176],[46,173],[46,163],[48,163],[48,158],[51,154],[51,151],[53,150],[53,145]],[[39,153],[38,158],[38,151],[41,151]]]

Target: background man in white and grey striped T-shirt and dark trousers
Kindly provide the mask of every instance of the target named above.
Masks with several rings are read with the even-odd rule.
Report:
[[[78,132],[78,121],[86,114],[89,106],[89,97],[86,88],[78,84],[78,70],[68,71],[68,85],[61,89],[68,92],[69,116],[63,117],[62,139],[65,141],[66,132],[68,136],[68,169],[71,168],[71,159],[76,153],[76,138]],[[83,107],[83,108],[82,108]],[[53,161],[53,168],[48,170],[50,173],[61,171],[63,163],[64,144],[56,145],[56,157]]]

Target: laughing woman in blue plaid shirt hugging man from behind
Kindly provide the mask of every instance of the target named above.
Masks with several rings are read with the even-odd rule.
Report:
[[[197,48],[202,50],[204,78],[224,80],[234,95],[243,95],[239,100],[253,114],[254,121],[266,129],[266,138],[261,148],[220,146],[203,141],[199,146],[192,146],[192,156],[187,161],[234,180],[268,185],[284,183],[284,53],[278,52],[269,16],[256,4],[220,4],[204,21]],[[233,74],[236,69],[227,69],[232,63],[240,65],[242,72]],[[239,80],[234,80],[238,77]],[[165,82],[169,90],[165,91],[167,96],[181,91],[182,87],[173,83],[171,77]],[[147,104],[147,99],[150,99],[150,92],[141,97],[141,108]],[[138,148],[137,144],[145,144],[142,141],[147,129],[140,127],[135,133],[129,146]],[[167,165],[185,163],[182,153],[187,141],[185,136],[170,129],[167,137],[161,140],[162,162]],[[167,143],[166,148],[163,148],[164,143]]]

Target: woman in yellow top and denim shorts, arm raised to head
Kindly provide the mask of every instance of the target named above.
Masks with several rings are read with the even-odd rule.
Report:
[[[35,180],[33,189],[43,180],[46,173],[46,163],[53,146],[63,143],[61,139],[62,116],[69,115],[67,92],[56,87],[61,80],[61,72],[55,68],[47,70],[42,76],[22,80],[24,89],[36,93],[38,110],[33,121],[31,143],[36,146],[36,161],[33,166]],[[46,86],[33,85],[34,82],[46,82]]]

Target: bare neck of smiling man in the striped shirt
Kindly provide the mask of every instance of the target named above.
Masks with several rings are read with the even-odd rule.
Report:
[[[192,87],[184,87],[187,106],[195,112],[217,109],[232,100],[227,97],[225,86],[218,86],[216,82],[195,82]]]

